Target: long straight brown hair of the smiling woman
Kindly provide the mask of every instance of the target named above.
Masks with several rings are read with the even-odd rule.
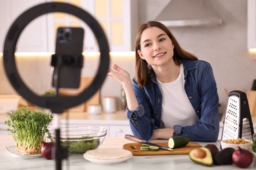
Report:
[[[136,36],[136,40],[135,40],[135,54],[136,54],[135,78],[137,80],[137,84],[140,87],[146,86],[146,84],[148,83],[148,63],[146,62],[145,59],[140,58],[140,56],[138,54],[138,50],[141,50],[140,38],[141,38],[142,32],[149,27],[159,27],[171,39],[171,41],[174,44],[173,59],[177,65],[181,64],[180,61],[182,58],[192,59],[192,60],[198,59],[196,56],[194,56],[190,52],[186,52],[185,50],[183,50],[181,48],[181,46],[179,45],[179,43],[177,42],[177,40],[175,39],[175,37],[173,36],[171,31],[165,25],[161,24],[160,22],[156,22],[156,21],[150,21],[145,24],[142,24],[142,25],[140,25],[140,27],[137,31],[137,36]],[[170,48],[171,48],[171,46],[170,46]]]

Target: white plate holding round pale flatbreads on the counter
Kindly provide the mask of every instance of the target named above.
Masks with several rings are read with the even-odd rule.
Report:
[[[112,164],[129,160],[133,154],[129,150],[122,148],[100,148],[88,150],[83,154],[85,160],[98,164]]]

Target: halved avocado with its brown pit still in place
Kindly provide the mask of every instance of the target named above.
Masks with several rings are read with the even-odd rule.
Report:
[[[208,148],[199,147],[190,150],[188,154],[190,160],[200,165],[211,167],[213,165],[213,157],[211,151]]]

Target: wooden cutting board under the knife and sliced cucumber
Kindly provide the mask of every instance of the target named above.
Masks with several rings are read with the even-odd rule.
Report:
[[[168,142],[161,142],[161,143],[155,143],[159,144],[161,146],[168,147]],[[130,150],[133,155],[135,156],[146,156],[146,155],[173,155],[173,154],[188,154],[190,150],[194,148],[201,147],[200,144],[195,142],[189,142],[186,146],[181,148],[174,148],[173,151],[169,150],[158,150],[158,151],[152,151],[152,150],[146,150],[141,151],[140,150],[141,143],[127,143],[123,145],[123,148],[125,150]]]

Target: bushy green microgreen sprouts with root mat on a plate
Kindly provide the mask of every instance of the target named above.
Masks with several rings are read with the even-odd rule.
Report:
[[[28,107],[18,108],[7,112],[9,120],[5,125],[14,141],[16,150],[23,154],[40,154],[41,142],[47,138],[51,139],[49,125],[53,120],[53,115],[45,110],[32,110]]]

